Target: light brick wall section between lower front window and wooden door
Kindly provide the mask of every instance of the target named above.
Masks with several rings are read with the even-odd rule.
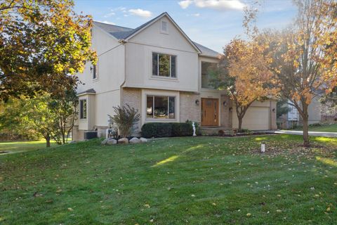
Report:
[[[199,101],[199,105],[195,102]],[[201,122],[200,118],[201,98],[199,94],[180,92],[180,122],[190,120]]]

